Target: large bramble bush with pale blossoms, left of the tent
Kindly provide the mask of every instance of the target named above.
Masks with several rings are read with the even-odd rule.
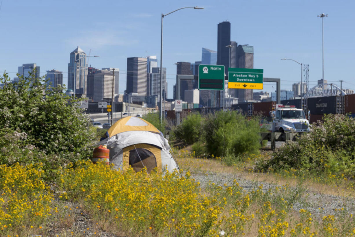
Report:
[[[4,84],[0,89],[0,143],[6,145],[5,137],[22,134],[20,140],[11,144],[19,142],[19,147],[34,147],[38,152],[49,155],[50,159],[58,158],[58,165],[65,159],[72,162],[90,156],[88,117],[77,106],[81,99],[70,99],[61,86],[53,88],[44,78],[36,78],[35,71],[28,77],[18,76],[19,80],[13,83],[6,72],[0,78],[0,83]],[[24,151],[17,156],[25,158],[26,154]],[[5,154],[0,162],[11,164],[12,159],[17,157]],[[50,163],[55,162],[50,160]]]

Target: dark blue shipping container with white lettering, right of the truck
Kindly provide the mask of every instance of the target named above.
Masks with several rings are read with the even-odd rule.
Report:
[[[308,109],[315,114],[343,114],[343,96],[326,96],[308,98]]]

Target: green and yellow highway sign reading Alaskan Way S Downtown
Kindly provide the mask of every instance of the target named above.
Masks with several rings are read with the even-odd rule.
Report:
[[[228,68],[228,88],[263,89],[263,69]]]

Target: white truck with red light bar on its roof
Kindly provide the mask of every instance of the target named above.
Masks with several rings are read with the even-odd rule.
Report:
[[[275,111],[271,112],[273,116],[272,131],[274,132],[309,132],[310,124],[306,119],[305,112],[302,109],[296,109],[295,106],[277,105]]]

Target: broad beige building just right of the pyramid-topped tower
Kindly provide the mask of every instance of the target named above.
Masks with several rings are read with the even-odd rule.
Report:
[[[93,101],[104,98],[112,98],[112,72],[109,70],[98,70],[94,74],[94,95]]]

